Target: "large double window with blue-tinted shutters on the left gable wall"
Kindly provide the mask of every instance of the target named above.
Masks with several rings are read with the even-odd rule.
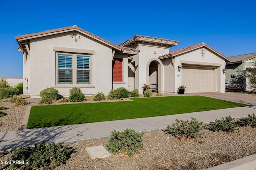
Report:
[[[56,53],[58,84],[90,84],[90,55]]]

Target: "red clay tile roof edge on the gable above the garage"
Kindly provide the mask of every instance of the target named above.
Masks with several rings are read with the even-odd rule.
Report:
[[[228,61],[230,59],[228,59],[228,57],[226,57],[225,55],[223,55],[222,53],[218,52],[217,50],[215,50],[214,48],[210,47],[209,45],[207,45],[206,43],[199,43],[199,44],[196,44],[196,45],[191,45],[189,47],[184,47],[182,49],[177,49],[177,50],[174,50],[174,51],[170,51],[168,54],[165,54],[165,55],[162,55],[159,57],[159,59],[165,59],[165,58],[169,58],[169,57],[174,57],[176,55],[179,55],[181,53],[185,53],[187,51],[191,51],[193,49],[197,49],[198,47],[208,47],[209,49],[211,49],[212,51],[214,51],[215,53],[219,54],[220,56],[226,58]]]

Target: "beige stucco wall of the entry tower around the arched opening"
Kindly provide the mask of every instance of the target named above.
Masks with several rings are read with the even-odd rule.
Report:
[[[158,91],[162,92],[162,82],[164,79],[163,76],[163,65],[162,61],[158,59],[159,56],[167,54],[169,52],[169,48],[167,47],[157,47],[151,45],[145,45],[139,43],[136,49],[140,50],[138,56],[134,57],[135,61],[135,88],[142,93],[143,84],[150,84],[149,82],[149,64],[152,61],[156,61],[157,64],[160,64],[158,69]]]

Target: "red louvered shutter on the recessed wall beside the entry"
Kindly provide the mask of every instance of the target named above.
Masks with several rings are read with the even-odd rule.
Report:
[[[114,59],[113,61],[113,82],[123,81],[122,59]]]

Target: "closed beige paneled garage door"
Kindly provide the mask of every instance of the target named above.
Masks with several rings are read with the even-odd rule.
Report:
[[[182,85],[186,93],[213,92],[213,68],[182,66]]]

